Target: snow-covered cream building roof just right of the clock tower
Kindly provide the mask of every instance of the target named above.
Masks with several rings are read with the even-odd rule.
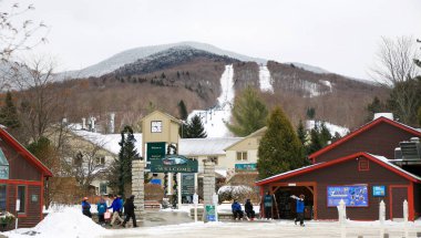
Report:
[[[182,138],[179,139],[178,154],[195,155],[225,155],[225,148],[243,139],[243,137],[215,137],[215,138]]]

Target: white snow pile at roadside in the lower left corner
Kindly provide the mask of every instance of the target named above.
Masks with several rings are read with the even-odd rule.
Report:
[[[50,213],[40,224],[31,229],[18,229],[6,232],[8,237],[99,237],[109,231],[82,215],[81,209],[64,207]]]

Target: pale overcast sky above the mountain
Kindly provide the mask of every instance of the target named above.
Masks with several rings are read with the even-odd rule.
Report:
[[[54,56],[61,70],[83,69],[131,48],[198,41],[369,79],[381,37],[421,38],[420,0],[42,0],[34,6],[33,18],[51,28],[49,43],[37,51]]]

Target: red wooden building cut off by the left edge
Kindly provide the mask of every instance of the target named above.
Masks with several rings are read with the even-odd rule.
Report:
[[[19,227],[33,227],[42,220],[44,179],[51,176],[35,156],[0,128],[0,210],[18,215]]]

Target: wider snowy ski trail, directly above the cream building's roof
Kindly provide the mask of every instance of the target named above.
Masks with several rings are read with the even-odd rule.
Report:
[[[202,118],[207,137],[230,136],[232,133],[226,127],[225,122],[229,122],[234,97],[234,69],[233,65],[225,65],[225,71],[220,76],[220,95],[216,100],[217,105],[206,111],[193,111],[188,115],[188,121],[197,114]]]

